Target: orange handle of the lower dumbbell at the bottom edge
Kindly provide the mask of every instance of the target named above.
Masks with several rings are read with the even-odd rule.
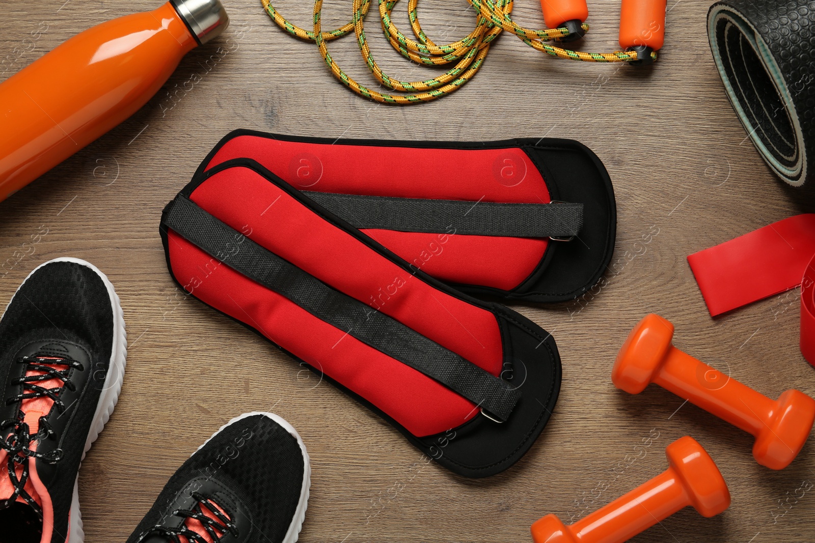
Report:
[[[622,543],[691,505],[672,467],[568,529],[581,543]]]

